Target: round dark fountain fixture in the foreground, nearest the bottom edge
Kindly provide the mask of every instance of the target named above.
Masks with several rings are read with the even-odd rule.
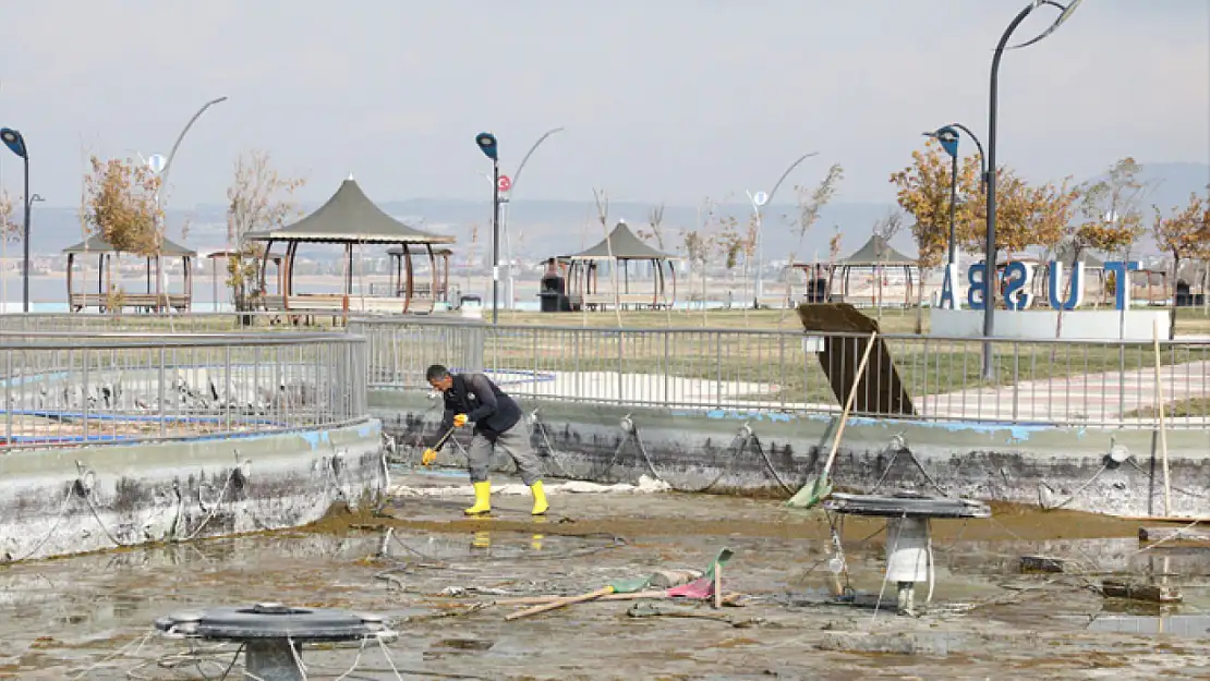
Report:
[[[264,681],[305,680],[302,644],[397,636],[381,614],[280,602],[174,612],[156,619],[155,627],[169,636],[242,644],[248,674]]]

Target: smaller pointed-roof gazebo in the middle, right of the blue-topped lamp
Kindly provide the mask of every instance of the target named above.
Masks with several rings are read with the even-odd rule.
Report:
[[[613,305],[661,308],[672,307],[676,302],[676,255],[645,243],[621,220],[597,246],[575,255],[552,258],[548,265],[563,265],[572,307],[584,305],[589,310],[605,310]],[[651,265],[651,293],[630,293],[632,262]],[[600,290],[601,265],[617,267],[617,273],[621,275],[617,285],[610,287],[612,293]]]

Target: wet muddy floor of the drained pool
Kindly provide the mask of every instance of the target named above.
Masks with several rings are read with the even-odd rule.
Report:
[[[877,612],[828,602],[829,524],[818,510],[555,490],[544,519],[531,519],[520,495],[495,496],[491,518],[463,519],[465,475],[396,483],[430,491],[394,496],[387,516],[0,566],[0,679],[219,679],[236,646],[197,644],[190,656],[152,622],[259,601],[393,619],[399,637],[386,651],[305,648],[309,679],[336,679],[355,662],[345,679],[1210,679],[1210,549],[1141,550],[1135,521],[1010,507],[992,520],[934,521],[933,600],[924,605],[917,585],[917,617],[904,617],[893,584]],[[859,594],[882,587],[881,527],[843,523]],[[701,570],[722,547],[734,552],[724,582],[747,595],[739,607],[647,601],[644,612],[662,616],[634,617],[634,602],[609,601],[505,622],[518,606],[476,605]],[[1072,569],[1021,575],[1028,554]],[[1185,602],[1160,611],[1107,600],[1093,588],[1107,576],[1166,581]],[[242,665],[227,677],[244,679]]]

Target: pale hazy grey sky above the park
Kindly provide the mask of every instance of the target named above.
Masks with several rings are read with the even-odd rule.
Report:
[[[840,201],[891,201],[921,131],[986,138],[992,48],[1026,0],[38,0],[8,2],[0,123],[34,191],[80,194],[82,148],[167,154],[172,206],[223,203],[242,150],[319,201],[350,172],[371,198],[478,198],[546,129],[517,198],[696,202],[846,168]],[[1055,12],[1035,12],[1021,40]],[[999,160],[1033,179],[1114,158],[1210,160],[1210,2],[1084,0],[1006,56]],[[986,139],[985,139],[986,142]],[[4,152],[4,184],[19,166]],[[790,198],[789,191],[778,198]]]

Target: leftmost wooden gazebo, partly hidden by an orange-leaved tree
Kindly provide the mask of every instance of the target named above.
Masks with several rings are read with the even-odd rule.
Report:
[[[105,311],[110,304],[109,290],[114,283],[113,279],[113,256],[121,255],[122,252],[114,248],[104,237],[100,235],[92,235],[85,241],[77,244],[69,246],[63,249],[63,253],[68,255],[68,306],[73,312],[80,312],[88,307],[96,307],[99,311]],[[73,265],[75,264],[77,255],[97,255],[97,293],[88,292],[76,292],[75,281],[73,276]],[[133,255],[133,254],[129,254]],[[134,292],[121,292],[122,307],[131,307],[134,310],[146,310],[163,312],[165,310],[172,308],[178,311],[186,311],[194,298],[194,272],[191,267],[192,259],[197,255],[196,250],[180,246],[168,238],[163,238],[160,244],[160,255],[144,256],[146,262],[146,293],[134,293]],[[161,295],[156,295],[155,278],[152,278],[152,262],[155,264],[156,278],[162,278],[162,258],[180,258],[184,270],[184,292],[183,293],[169,293],[167,290],[161,290]]]

